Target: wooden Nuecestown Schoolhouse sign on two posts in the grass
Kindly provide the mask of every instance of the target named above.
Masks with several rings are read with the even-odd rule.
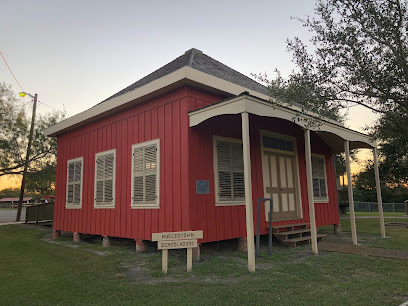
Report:
[[[153,233],[152,241],[157,241],[157,248],[162,250],[162,271],[167,273],[170,249],[187,249],[187,272],[193,269],[193,248],[197,240],[203,238],[203,231]]]

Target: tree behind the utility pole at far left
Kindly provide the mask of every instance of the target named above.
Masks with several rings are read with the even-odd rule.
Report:
[[[62,112],[37,116],[28,173],[55,168],[56,140],[44,130],[64,117]],[[22,174],[29,134],[25,105],[4,82],[0,83],[0,176]]]

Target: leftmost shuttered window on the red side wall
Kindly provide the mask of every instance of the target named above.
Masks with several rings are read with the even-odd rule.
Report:
[[[67,169],[67,208],[82,207],[83,157],[68,160]]]

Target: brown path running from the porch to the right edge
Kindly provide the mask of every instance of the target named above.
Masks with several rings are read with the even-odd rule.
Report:
[[[338,252],[390,259],[408,260],[408,251],[369,248],[362,245],[323,242],[319,243],[319,250],[327,252]]]

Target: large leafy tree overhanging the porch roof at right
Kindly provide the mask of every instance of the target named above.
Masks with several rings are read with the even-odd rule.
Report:
[[[312,33],[312,52],[287,41],[297,70],[267,81],[272,97],[329,117],[361,105],[378,114],[371,134],[384,171],[408,176],[408,4],[400,0],[318,0],[315,16],[298,20]]]

